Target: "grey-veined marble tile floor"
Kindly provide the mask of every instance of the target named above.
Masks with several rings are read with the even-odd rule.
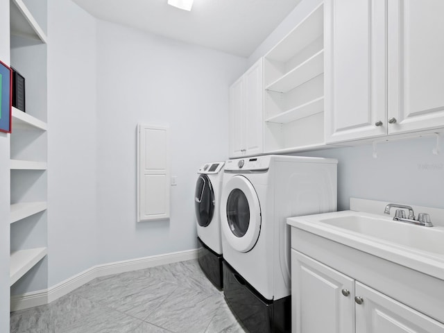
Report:
[[[197,260],[96,278],[11,313],[10,333],[244,333]]]

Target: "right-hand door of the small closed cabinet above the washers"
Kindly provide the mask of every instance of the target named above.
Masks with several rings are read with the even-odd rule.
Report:
[[[264,76],[262,58],[253,65],[245,78],[244,137],[247,155],[262,153],[264,147]]]

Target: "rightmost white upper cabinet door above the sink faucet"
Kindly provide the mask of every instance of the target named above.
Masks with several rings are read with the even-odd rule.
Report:
[[[388,134],[444,126],[444,1],[388,2]]]

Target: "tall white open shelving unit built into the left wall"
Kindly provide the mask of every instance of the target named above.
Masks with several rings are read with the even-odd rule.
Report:
[[[43,1],[46,0],[39,0],[36,6],[44,4]],[[33,5],[33,3],[29,4]],[[46,6],[42,8],[46,11]],[[42,237],[40,232],[32,232],[38,223],[37,229],[43,229],[47,233],[46,214],[42,214],[47,208],[46,40],[44,29],[37,22],[30,8],[26,6],[26,1],[10,0],[10,65],[17,69],[26,80],[26,113],[12,108],[12,133],[10,135],[9,223],[18,227],[11,228],[10,234],[11,286],[33,269],[47,254],[46,237]],[[31,216],[36,216],[36,214],[41,214],[41,216],[33,219]],[[23,228],[27,223],[29,223],[29,228]],[[31,230],[31,233],[17,234],[22,230]],[[35,275],[39,274],[46,276],[44,272],[35,272]]]

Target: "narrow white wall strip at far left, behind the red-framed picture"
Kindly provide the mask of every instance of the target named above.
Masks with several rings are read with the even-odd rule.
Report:
[[[0,60],[9,65],[9,1],[0,1]],[[9,135],[0,133],[0,332],[9,332]]]

